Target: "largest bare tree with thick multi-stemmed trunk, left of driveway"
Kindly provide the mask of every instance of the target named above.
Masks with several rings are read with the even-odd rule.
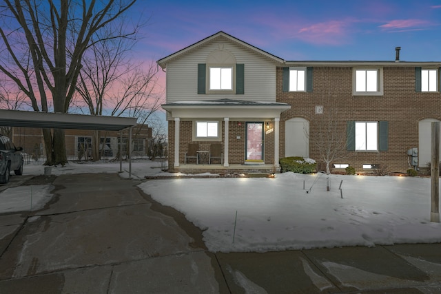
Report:
[[[34,111],[68,112],[83,55],[94,43],[134,34],[136,27],[123,34],[110,27],[121,26],[116,22],[135,2],[4,0],[0,4],[1,72],[28,96]],[[43,136],[45,165],[64,165],[64,131],[54,129],[51,134],[43,129]]]

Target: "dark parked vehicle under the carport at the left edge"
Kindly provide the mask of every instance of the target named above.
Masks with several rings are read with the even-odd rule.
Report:
[[[0,184],[9,182],[10,171],[23,174],[23,148],[15,147],[10,138],[0,135]]]

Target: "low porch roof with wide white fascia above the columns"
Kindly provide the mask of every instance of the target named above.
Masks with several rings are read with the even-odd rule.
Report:
[[[176,101],[162,105],[172,117],[179,118],[278,118],[291,108],[287,103],[218,99]]]

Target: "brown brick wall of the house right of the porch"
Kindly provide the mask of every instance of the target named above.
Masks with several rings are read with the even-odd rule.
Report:
[[[352,67],[314,67],[313,92],[282,92],[282,69],[277,70],[277,101],[291,104],[280,118],[280,158],[285,156],[285,121],[300,117],[309,121],[312,136],[320,125],[315,106],[325,112],[338,103],[339,132],[346,135],[346,122],[389,121],[387,151],[347,151],[343,160],[363,171],[363,164],[379,164],[389,171],[409,169],[407,149],[418,147],[418,122],[424,118],[441,120],[439,93],[415,92],[415,67],[384,67],[383,96],[352,96]],[[332,105],[331,105],[332,104]],[[317,159],[318,149],[310,144],[309,154]],[[318,160],[320,161],[320,160]]]

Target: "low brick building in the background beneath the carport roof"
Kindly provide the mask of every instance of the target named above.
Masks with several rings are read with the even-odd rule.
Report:
[[[87,129],[65,129],[66,156],[68,160],[88,160],[92,156],[93,131]],[[103,150],[102,158],[115,158],[119,151],[121,140],[120,132],[101,131],[100,148]],[[139,125],[132,129],[132,156],[147,156],[152,128]],[[123,130],[123,156],[127,152],[128,132]],[[45,158],[43,133],[35,127],[13,127],[12,140],[17,146],[23,147],[23,152],[28,154],[28,160]]]

